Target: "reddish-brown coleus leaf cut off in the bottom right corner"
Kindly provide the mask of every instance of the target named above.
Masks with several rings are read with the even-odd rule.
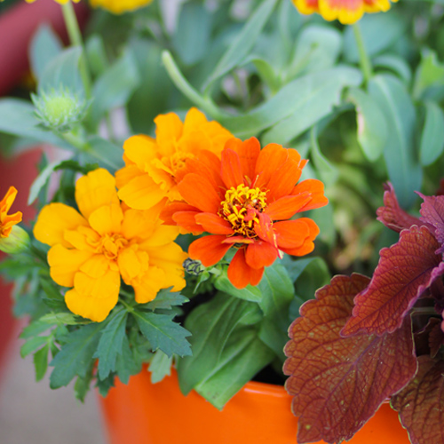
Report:
[[[392,397],[412,444],[444,444],[444,361],[418,359],[416,377]]]

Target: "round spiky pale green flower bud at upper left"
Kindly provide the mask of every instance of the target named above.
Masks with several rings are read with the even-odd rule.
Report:
[[[49,93],[31,94],[36,116],[44,127],[58,132],[71,131],[83,120],[87,103],[67,89],[52,89]]]

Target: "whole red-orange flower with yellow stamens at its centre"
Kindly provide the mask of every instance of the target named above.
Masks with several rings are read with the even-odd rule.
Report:
[[[211,169],[186,174],[178,184],[186,202],[170,203],[161,217],[194,234],[210,233],[188,250],[204,266],[236,248],[228,278],[238,289],[256,285],[281,251],[303,256],[314,248],[313,220],[288,220],[328,203],[321,181],[297,184],[306,162],[294,149],[269,144],[261,150],[258,139],[230,139]]]

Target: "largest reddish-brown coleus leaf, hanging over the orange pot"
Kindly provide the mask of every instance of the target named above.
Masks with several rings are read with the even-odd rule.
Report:
[[[289,328],[284,373],[299,443],[349,440],[415,375],[409,318],[393,334],[341,337],[353,297],[368,284],[361,274],[336,276]]]

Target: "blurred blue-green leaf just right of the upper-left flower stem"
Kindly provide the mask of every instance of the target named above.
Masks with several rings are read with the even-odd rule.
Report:
[[[131,94],[139,86],[139,71],[134,55],[130,50],[123,53],[111,67],[99,76],[92,88],[89,120],[91,125],[99,124],[100,119],[115,107],[123,107]]]

